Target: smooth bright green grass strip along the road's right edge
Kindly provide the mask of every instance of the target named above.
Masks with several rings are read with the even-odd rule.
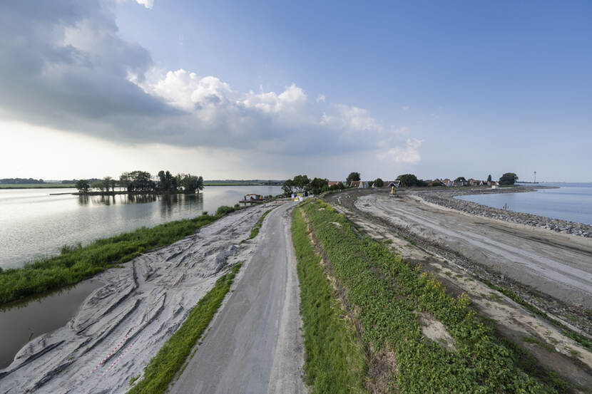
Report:
[[[292,242],[300,281],[305,381],[314,393],[367,393],[366,361],[352,321],[340,308],[300,209],[292,212]]]

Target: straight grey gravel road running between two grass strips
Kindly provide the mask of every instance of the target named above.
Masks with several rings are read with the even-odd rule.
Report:
[[[267,215],[244,276],[170,393],[306,392],[291,207]]]

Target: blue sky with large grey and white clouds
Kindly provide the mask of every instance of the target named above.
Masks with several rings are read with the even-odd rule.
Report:
[[[592,182],[590,1],[0,2],[0,178]]]

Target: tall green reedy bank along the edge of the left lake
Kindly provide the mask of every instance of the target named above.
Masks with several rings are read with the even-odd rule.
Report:
[[[141,227],[115,237],[97,239],[85,247],[62,247],[57,256],[34,261],[19,269],[0,269],[0,305],[76,284],[150,249],[183,239],[237,209],[240,208],[219,207],[215,215],[202,214],[151,228]]]

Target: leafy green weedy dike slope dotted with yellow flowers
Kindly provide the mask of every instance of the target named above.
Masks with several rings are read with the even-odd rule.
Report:
[[[317,200],[298,209],[305,212],[330,273],[357,313],[359,340],[365,348],[394,351],[391,380],[399,393],[556,393],[565,388],[553,374],[537,368],[528,353],[496,338],[466,294],[449,296],[434,276],[357,232],[330,205]],[[304,229],[295,226],[294,232],[297,237]],[[302,280],[300,286],[303,294],[312,287]],[[321,297],[318,305],[326,303]],[[453,350],[423,335],[420,313],[444,325],[454,338]],[[305,323],[305,338],[309,335]],[[305,346],[307,377],[323,373],[325,367],[310,355],[330,351],[332,342],[305,341]]]

